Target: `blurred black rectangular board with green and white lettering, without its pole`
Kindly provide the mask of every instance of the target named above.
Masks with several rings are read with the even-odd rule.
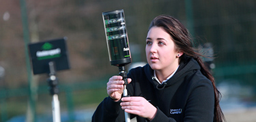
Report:
[[[30,43],[29,52],[33,74],[50,73],[48,62],[55,62],[55,70],[69,69],[66,37],[39,43]]]

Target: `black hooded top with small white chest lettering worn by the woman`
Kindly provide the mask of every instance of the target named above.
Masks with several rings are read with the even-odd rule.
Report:
[[[214,89],[193,58],[181,62],[175,75],[162,84],[155,80],[154,70],[148,64],[133,68],[128,77],[132,79],[127,86],[128,95],[142,96],[156,106],[157,112],[152,122],[213,121]],[[105,98],[96,109],[92,121],[124,121],[120,102]],[[137,121],[145,122],[147,119],[137,117]]]

